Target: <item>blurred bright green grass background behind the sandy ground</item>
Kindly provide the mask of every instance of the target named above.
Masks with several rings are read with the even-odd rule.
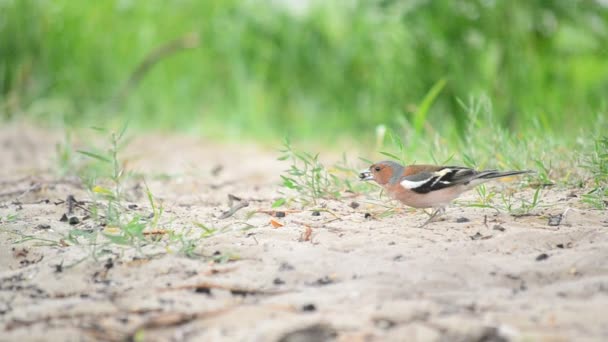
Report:
[[[487,96],[493,124],[575,137],[606,115],[607,6],[0,0],[0,116],[226,138],[372,137],[379,124],[460,137],[461,101]]]

